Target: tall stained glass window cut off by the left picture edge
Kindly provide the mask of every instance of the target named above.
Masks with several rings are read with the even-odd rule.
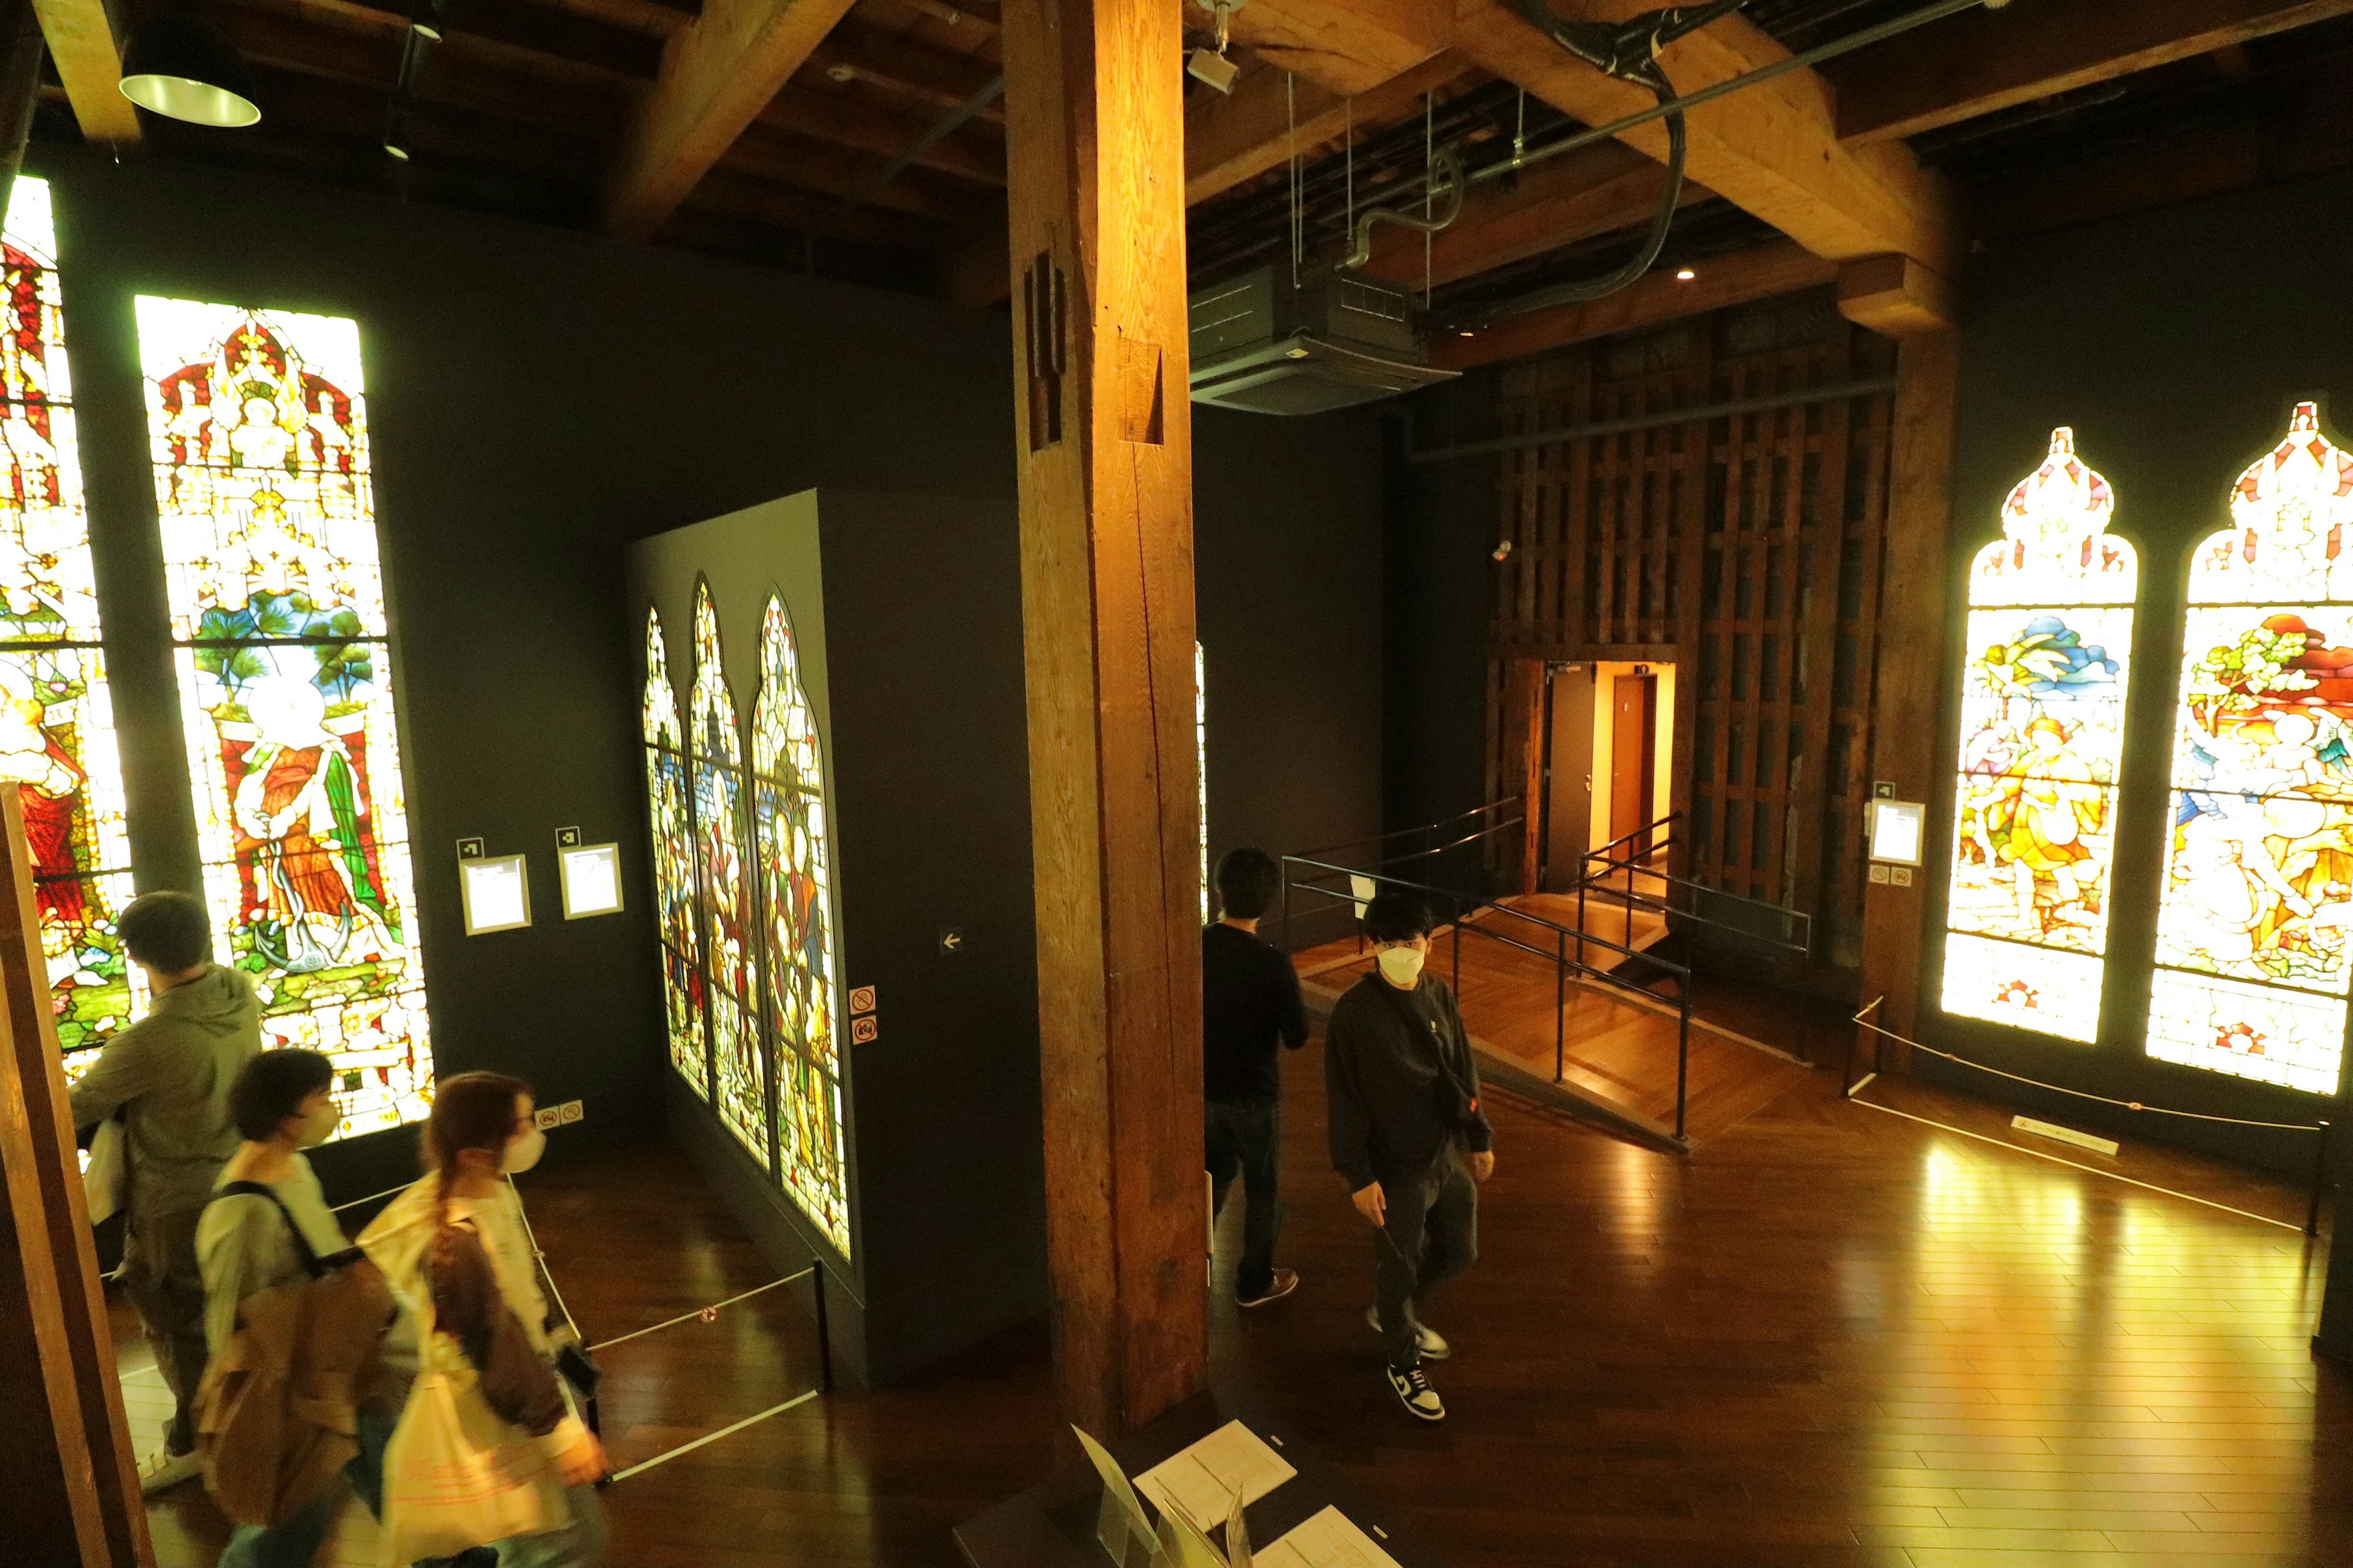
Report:
[[[0,235],[0,778],[24,785],[56,1044],[78,1072],[141,997],[115,912],[132,896],[115,719],[82,510],[49,186],[19,174]]]

